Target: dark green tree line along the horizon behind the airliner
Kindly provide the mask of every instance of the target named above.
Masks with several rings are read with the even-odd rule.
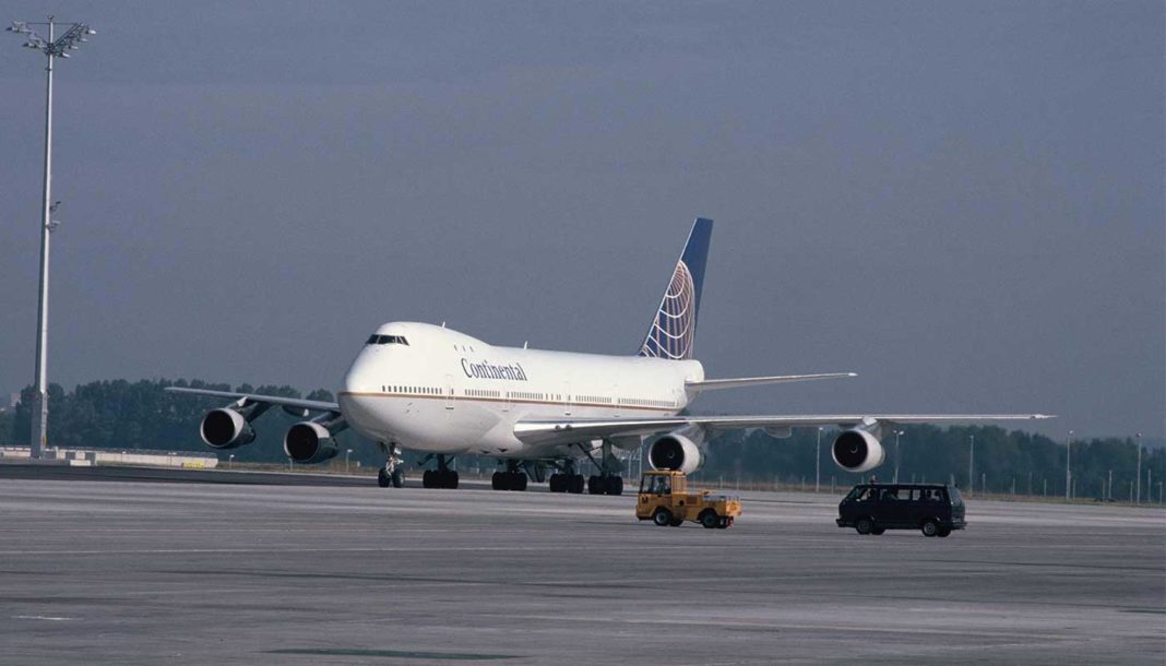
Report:
[[[198,437],[198,423],[209,409],[222,407],[220,398],[201,398],[163,391],[168,386],[264,393],[310,400],[333,400],[332,393],[317,388],[302,395],[292,386],[230,386],[202,380],[168,379],[92,381],[65,392],[49,386],[49,446],[105,448],[118,450],[194,450],[209,453]],[[28,446],[34,391],[21,392],[15,409],[0,414],[0,442]],[[273,408],[255,422],[255,441],[229,451],[241,462],[286,462],[283,433],[301,416]],[[904,426],[895,446],[893,433],[883,434],[886,462],[873,470],[879,481],[891,481],[898,462],[900,482],[955,482],[961,488],[992,493],[1065,496],[1065,442],[998,426]],[[744,483],[809,483],[815,479],[815,460],[827,486],[831,477],[840,486],[855,483],[859,475],[845,472],[830,458],[836,430],[795,429],[791,437],[778,440],[764,430],[730,430],[718,434],[708,447],[700,472],[703,479]],[[975,451],[971,440],[975,437]],[[352,430],[337,437],[342,451],[352,449],[351,460],[380,465],[381,454],[372,442]],[[225,457],[227,454],[222,454]],[[820,456],[820,457],[817,457]],[[969,457],[972,457],[969,479]],[[416,456],[409,456],[416,460]],[[1129,497],[1138,465],[1136,441],[1131,437],[1090,439],[1073,442],[1070,450],[1074,495],[1116,500]],[[468,464],[469,461],[462,461]],[[489,469],[491,461],[475,461]],[[1149,478],[1147,478],[1149,475]],[[1160,498],[1159,483],[1166,481],[1166,449],[1144,449],[1142,454],[1142,497]],[[1112,479],[1112,481],[1110,481]]]

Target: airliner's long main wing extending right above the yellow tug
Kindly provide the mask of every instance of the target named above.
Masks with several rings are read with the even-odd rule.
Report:
[[[519,421],[514,436],[528,444],[574,443],[605,437],[633,437],[670,433],[688,426],[709,430],[747,428],[799,428],[813,426],[885,423],[944,423],[968,421],[1026,421],[1052,419],[1047,414],[807,414],[791,416],[660,416],[655,419],[556,419]]]

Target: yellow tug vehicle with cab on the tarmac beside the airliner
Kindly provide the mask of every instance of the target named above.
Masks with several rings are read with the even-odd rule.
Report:
[[[690,520],[709,530],[724,530],[738,516],[739,497],[708,490],[689,492],[688,477],[682,471],[647,471],[640,479],[640,495],[635,500],[635,517],[640,520],[651,520],[660,527],[680,527]]]

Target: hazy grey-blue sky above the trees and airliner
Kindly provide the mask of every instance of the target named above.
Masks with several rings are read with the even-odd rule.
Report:
[[[1164,6],[73,2],[49,377],[337,388],[386,321],[633,353],[716,220],[724,413],[1166,435]],[[43,57],[0,35],[0,393],[34,380]]]

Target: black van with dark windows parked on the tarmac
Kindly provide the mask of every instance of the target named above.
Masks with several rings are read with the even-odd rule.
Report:
[[[838,527],[859,534],[921,530],[923,537],[947,537],[963,530],[963,498],[951,485],[861,483],[838,505]]]

